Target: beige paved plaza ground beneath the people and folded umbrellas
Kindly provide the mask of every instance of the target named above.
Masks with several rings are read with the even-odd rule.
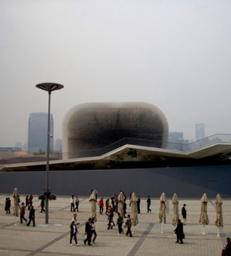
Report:
[[[167,224],[161,234],[161,224],[158,223],[159,200],[151,200],[151,213],[147,213],[146,200],[141,200],[141,214],[139,214],[139,224],[135,227],[133,237],[126,237],[118,234],[117,226],[113,230],[107,231],[107,216],[99,215],[96,222],[96,244],[84,246],[84,226],[90,217],[90,202],[88,198],[80,198],[79,213],[77,220],[80,222],[79,235],[77,235],[79,247],[69,245],[70,221],[73,213],[70,212],[70,199],[57,197],[57,200],[50,201],[49,224],[44,224],[44,213],[39,213],[38,206],[40,200],[34,196],[33,206],[35,206],[36,226],[26,226],[20,224],[19,217],[16,219],[11,214],[4,211],[4,201],[6,196],[0,195],[0,255],[201,255],[212,256],[221,255],[223,244],[226,244],[226,236],[231,235],[231,200],[223,200],[223,222],[220,235],[217,236],[215,222],[214,199],[208,202],[208,218],[210,225],[206,226],[206,235],[202,235],[203,226],[199,225],[200,200],[179,200],[179,208],[182,204],[187,204],[188,218],[187,225],[184,226],[184,244],[176,244],[172,226],[172,203],[167,202]],[[100,192],[99,192],[100,196]],[[25,197],[21,196],[21,202]],[[13,200],[12,200],[13,204]],[[128,213],[131,212],[129,203]],[[11,207],[13,212],[13,206]],[[26,210],[25,217],[28,217]],[[116,222],[117,214],[114,221]],[[15,225],[16,224],[16,225]]]

